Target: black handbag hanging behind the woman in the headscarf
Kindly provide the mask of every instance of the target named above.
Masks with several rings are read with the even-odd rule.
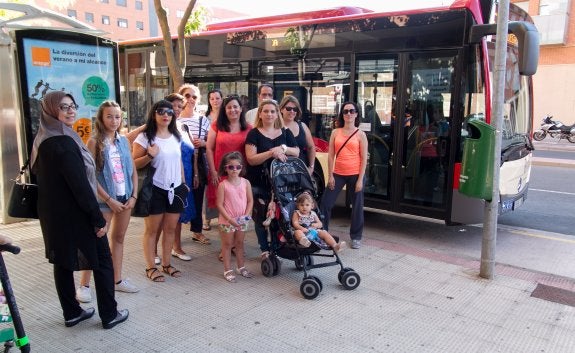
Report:
[[[8,201],[8,215],[14,218],[38,218],[38,185],[25,182],[24,174],[30,173],[27,160],[20,169],[20,173],[13,180],[10,200]]]

